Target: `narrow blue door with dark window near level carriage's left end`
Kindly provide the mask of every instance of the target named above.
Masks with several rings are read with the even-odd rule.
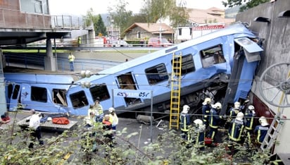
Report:
[[[21,87],[21,85],[15,84],[11,87],[13,89],[12,89],[11,93],[8,91],[9,102],[8,102],[7,107],[9,109],[9,111],[15,111],[15,110],[17,110],[18,104],[20,103],[20,90],[21,90],[20,87]]]

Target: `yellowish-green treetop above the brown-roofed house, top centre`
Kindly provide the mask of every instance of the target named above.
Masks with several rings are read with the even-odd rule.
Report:
[[[176,5],[175,0],[144,0],[141,13],[146,14],[147,23],[156,23],[161,18],[169,18],[172,27],[177,27],[187,21],[188,11],[186,1]]]

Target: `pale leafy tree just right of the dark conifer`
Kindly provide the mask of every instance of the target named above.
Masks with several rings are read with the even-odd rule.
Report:
[[[114,9],[108,8],[111,23],[113,23],[114,27],[119,27],[121,33],[132,23],[132,11],[126,10],[127,4],[127,2],[119,0],[118,5],[113,6]],[[123,35],[121,34],[121,37]]]

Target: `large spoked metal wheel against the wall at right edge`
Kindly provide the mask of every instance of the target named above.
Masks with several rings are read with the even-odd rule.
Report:
[[[290,106],[290,63],[276,63],[260,77],[260,94],[272,106]]]

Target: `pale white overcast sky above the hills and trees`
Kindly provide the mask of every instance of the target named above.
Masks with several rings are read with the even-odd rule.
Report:
[[[72,14],[86,15],[89,8],[93,8],[95,14],[108,13],[109,6],[115,6],[118,0],[49,0],[49,10],[51,15]],[[139,13],[140,6],[143,6],[144,0],[124,0],[129,4],[127,11]],[[217,7],[225,9],[222,6],[222,0],[187,0],[187,8],[211,8]]]

